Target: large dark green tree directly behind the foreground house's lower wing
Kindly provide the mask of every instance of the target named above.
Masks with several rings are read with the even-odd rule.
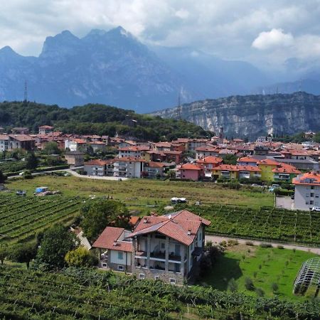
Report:
[[[127,228],[130,213],[123,203],[97,199],[81,208],[83,232],[90,240],[95,240],[105,227]]]

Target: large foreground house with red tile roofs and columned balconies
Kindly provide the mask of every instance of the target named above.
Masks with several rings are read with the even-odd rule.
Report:
[[[92,247],[100,250],[101,267],[183,284],[198,270],[207,225],[209,220],[188,210],[145,216],[132,233],[107,227]]]

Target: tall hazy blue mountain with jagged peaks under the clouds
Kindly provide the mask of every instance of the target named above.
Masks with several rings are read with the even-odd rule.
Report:
[[[207,97],[249,93],[267,77],[242,61],[193,48],[146,46],[122,27],[49,36],[38,57],[0,50],[0,101],[28,100],[63,107],[105,103],[151,112]]]

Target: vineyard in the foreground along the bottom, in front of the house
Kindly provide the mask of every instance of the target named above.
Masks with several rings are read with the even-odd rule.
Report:
[[[294,303],[210,287],[176,287],[95,270],[0,267],[1,319],[319,319]]]

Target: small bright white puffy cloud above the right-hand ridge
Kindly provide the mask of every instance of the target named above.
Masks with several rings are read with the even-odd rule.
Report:
[[[284,33],[282,29],[273,28],[271,31],[264,31],[252,42],[252,47],[259,50],[289,47],[294,43],[291,33]]]

